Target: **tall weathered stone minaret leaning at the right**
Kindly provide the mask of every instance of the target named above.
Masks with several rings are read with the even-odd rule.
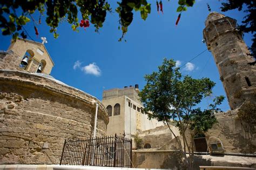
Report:
[[[231,110],[241,106],[245,100],[255,103],[255,60],[237,29],[237,21],[211,12],[205,21],[203,33],[207,48],[218,67]]]

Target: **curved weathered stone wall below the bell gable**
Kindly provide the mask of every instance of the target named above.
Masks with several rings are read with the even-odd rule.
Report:
[[[58,80],[0,70],[0,164],[59,164],[65,138],[97,135],[107,111],[98,99]]]

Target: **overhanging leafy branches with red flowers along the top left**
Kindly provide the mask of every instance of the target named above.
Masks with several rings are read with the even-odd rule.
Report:
[[[185,6],[193,6],[194,2],[179,0],[177,11],[185,11]],[[118,29],[122,30],[123,36],[133,21],[134,11],[139,11],[144,20],[151,12],[151,4],[147,0],[120,0],[117,4],[115,11],[119,14]],[[37,12],[40,13],[38,22],[33,18]],[[40,24],[42,17],[50,26],[50,32],[57,38],[58,25],[63,21],[71,24],[71,28],[77,31],[80,19],[87,20],[95,26],[97,32],[103,26],[107,12],[112,12],[107,0],[0,0],[0,28],[3,35],[12,35],[15,39],[18,35],[26,38],[28,32],[23,25],[31,19],[34,24]]]

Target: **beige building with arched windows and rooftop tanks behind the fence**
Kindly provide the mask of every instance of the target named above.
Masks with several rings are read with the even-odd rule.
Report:
[[[138,85],[123,89],[105,90],[102,103],[109,113],[107,135],[117,133],[131,138],[137,132],[150,130],[163,123],[156,119],[149,120],[138,97]]]

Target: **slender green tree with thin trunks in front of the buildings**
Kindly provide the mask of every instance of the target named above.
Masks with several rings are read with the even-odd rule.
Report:
[[[193,167],[194,157],[194,136],[209,130],[217,122],[213,112],[220,111],[217,105],[221,104],[224,96],[216,97],[208,110],[201,110],[197,104],[212,93],[215,85],[208,78],[193,79],[190,76],[181,76],[176,62],[164,59],[163,65],[158,67],[158,72],[145,76],[146,85],[139,92],[145,112],[149,119],[156,118],[169,126],[174,121],[183,137],[183,146],[177,136],[176,138],[180,151],[185,159],[188,169]],[[189,138],[186,134],[189,133]],[[188,157],[186,155],[188,152]]]

